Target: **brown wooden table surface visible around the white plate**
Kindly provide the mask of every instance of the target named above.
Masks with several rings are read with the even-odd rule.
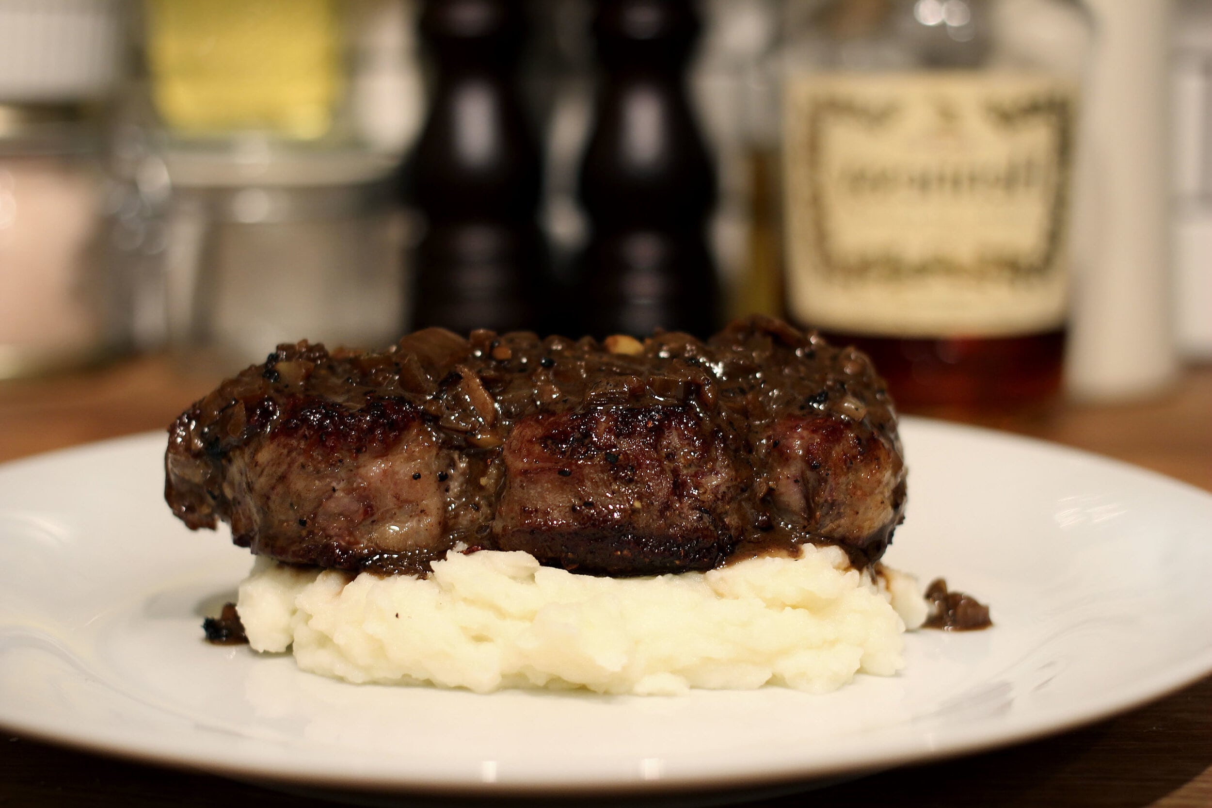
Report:
[[[213,376],[162,358],[0,383],[0,461],[164,428]],[[1131,405],[977,419],[1126,460],[1212,490],[1212,368]],[[1212,806],[1212,678],[1085,729],[753,803],[800,806]],[[0,734],[0,806],[332,804]],[[407,801],[401,801],[407,804]]]

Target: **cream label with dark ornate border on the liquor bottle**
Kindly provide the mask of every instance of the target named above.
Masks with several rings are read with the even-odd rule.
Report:
[[[787,85],[788,305],[898,337],[1062,325],[1075,90],[1031,74]]]

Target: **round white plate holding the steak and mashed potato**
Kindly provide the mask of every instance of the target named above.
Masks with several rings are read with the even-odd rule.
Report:
[[[161,491],[164,436],[0,468],[0,724],[240,778],[446,795],[754,787],[970,752],[1212,670],[1212,496],[1130,466],[907,419],[888,562],[993,605],[825,696],[354,687],[201,639],[250,567]]]

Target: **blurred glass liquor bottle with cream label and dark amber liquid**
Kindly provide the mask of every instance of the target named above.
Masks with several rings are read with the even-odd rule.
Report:
[[[788,12],[790,317],[868,352],[903,408],[1050,400],[1085,10],[830,0]]]

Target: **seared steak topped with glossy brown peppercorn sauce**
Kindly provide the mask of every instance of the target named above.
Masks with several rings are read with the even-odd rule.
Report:
[[[165,495],[279,561],[418,573],[458,542],[647,575],[901,522],[896,419],[867,358],[768,318],[707,342],[440,329],[382,353],[279,346],[170,427]]]

